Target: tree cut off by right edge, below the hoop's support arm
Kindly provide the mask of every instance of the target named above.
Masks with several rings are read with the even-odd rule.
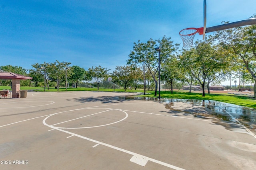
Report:
[[[251,18],[256,18],[256,14]],[[214,36],[220,45],[237,56],[236,62],[243,63],[256,82],[256,25],[217,31]],[[256,83],[253,91],[256,97]]]

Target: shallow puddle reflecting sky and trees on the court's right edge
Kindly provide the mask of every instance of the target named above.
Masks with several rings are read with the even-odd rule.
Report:
[[[146,98],[146,97],[122,97],[125,100],[150,100],[166,102],[165,108],[175,111],[180,111],[183,113],[189,113],[194,115],[194,117],[200,118],[216,118],[220,121],[231,121],[234,123],[242,123],[248,129],[256,130],[256,110],[248,107],[242,107],[234,104],[228,104],[224,102],[218,102],[214,100],[191,100],[191,99],[166,99],[161,98]],[[175,104],[182,102],[184,104],[190,104],[192,106],[201,106],[205,111],[190,111],[182,109],[174,109]],[[207,112],[206,112],[207,111]],[[255,132],[254,132],[255,133]]]

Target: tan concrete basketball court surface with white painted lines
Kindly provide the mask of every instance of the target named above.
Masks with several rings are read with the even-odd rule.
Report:
[[[0,170],[255,170],[244,127],[125,93],[28,92],[0,100]],[[179,110],[179,111],[177,111]]]

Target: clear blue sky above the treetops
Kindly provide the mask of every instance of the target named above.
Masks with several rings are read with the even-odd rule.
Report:
[[[203,0],[0,0],[0,65],[58,60],[114,70],[138,40],[166,35],[182,46],[179,31],[202,27],[202,7]],[[207,0],[207,27],[255,13],[255,0]]]

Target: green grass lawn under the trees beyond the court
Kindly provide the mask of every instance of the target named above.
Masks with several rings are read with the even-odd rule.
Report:
[[[3,89],[10,89],[10,86],[0,86],[0,90]],[[44,87],[28,87],[28,86],[21,86],[20,90],[34,90],[37,92],[44,92]],[[66,88],[59,88],[59,92],[65,92]],[[97,91],[97,88],[67,88],[67,91]],[[113,92],[113,89],[106,89],[101,88],[99,91],[104,92]],[[46,88],[46,92],[57,92],[57,89],[54,87],[50,88],[49,90]],[[124,92],[124,89],[115,89],[115,92]],[[143,93],[143,90],[126,90],[126,92],[138,92]],[[157,98],[154,96],[154,91],[148,91],[146,95],[139,95],[141,97],[150,97],[150,98]],[[216,100],[219,102],[225,102],[230,104],[236,104],[239,106],[250,107],[256,109],[256,100],[252,97],[247,96],[238,96],[234,94],[205,94],[202,97],[202,92],[199,93],[189,93],[189,92],[180,92],[174,91],[173,94],[168,91],[161,91],[160,94],[161,98],[169,98],[169,99],[194,99],[194,100]]]

